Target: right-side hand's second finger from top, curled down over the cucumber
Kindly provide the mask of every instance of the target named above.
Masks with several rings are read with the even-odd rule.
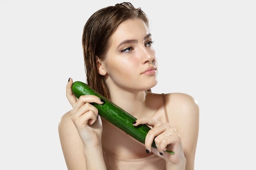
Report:
[[[166,129],[170,128],[171,124],[161,124],[159,126],[156,126],[155,128],[151,129],[148,131],[148,134],[146,135],[145,138],[145,146],[146,149],[148,149],[149,151],[151,150],[151,145],[153,143],[154,138],[161,134],[162,132],[164,132]]]

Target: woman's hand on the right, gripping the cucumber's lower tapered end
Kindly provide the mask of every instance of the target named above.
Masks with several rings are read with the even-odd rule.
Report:
[[[157,156],[165,159],[168,164],[178,165],[186,163],[180,135],[170,123],[162,123],[151,118],[140,118],[135,122],[136,123],[133,124],[134,126],[146,124],[153,127],[148,131],[145,139],[145,146],[149,152],[152,151]],[[153,140],[155,141],[157,149],[151,148]],[[175,154],[172,155],[168,152],[164,152],[165,150],[175,152]]]

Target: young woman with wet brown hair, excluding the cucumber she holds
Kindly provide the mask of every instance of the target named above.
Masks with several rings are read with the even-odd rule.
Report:
[[[86,22],[82,42],[87,84],[136,117],[134,126],[146,124],[151,130],[145,144],[133,139],[98,116],[90,103],[103,104],[102,99],[84,95],[77,100],[70,78],[66,94],[73,109],[59,123],[67,168],[193,170],[199,108],[183,93],[151,93],[157,59],[146,14],[125,2],[100,9]],[[157,149],[151,148],[153,140]]]

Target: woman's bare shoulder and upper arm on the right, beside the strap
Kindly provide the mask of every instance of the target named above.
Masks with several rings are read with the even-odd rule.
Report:
[[[184,93],[170,93],[165,97],[170,123],[182,140],[186,170],[193,170],[199,131],[198,104],[193,97]]]

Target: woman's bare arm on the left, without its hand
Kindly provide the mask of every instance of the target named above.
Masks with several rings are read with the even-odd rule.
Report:
[[[63,115],[58,130],[68,170],[106,170],[102,148],[83,147],[70,112]]]

